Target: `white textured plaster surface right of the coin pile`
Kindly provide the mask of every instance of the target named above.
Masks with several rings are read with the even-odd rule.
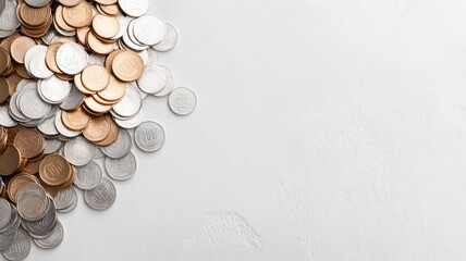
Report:
[[[199,97],[148,99],[164,148],[137,152],[106,212],[61,215],[30,260],[466,259],[464,0],[158,0],[162,55]]]

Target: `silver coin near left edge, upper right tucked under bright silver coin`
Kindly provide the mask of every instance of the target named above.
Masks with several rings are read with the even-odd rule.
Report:
[[[25,90],[17,100],[23,114],[33,120],[39,120],[47,115],[51,105],[44,102],[37,90]]]

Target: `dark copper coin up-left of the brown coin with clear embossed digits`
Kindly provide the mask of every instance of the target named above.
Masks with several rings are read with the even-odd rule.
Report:
[[[35,128],[24,128],[14,138],[14,146],[25,158],[35,158],[46,148],[46,139]]]

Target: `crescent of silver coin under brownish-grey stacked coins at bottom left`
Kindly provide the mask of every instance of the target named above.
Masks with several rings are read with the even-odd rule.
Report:
[[[57,210],[53,202],[49,198],[49,208],[47,209],[46,215],[39,221],[23,221],[23,227],[35,238],[41,238],[47,236],[53,228],[57,222]]]

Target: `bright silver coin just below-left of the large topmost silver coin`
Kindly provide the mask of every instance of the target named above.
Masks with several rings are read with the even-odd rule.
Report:
[[[39,80],[37,88],[46,102],[59,104],[70,95],[72,86],[69,82],[53,75],[47,79]]]

